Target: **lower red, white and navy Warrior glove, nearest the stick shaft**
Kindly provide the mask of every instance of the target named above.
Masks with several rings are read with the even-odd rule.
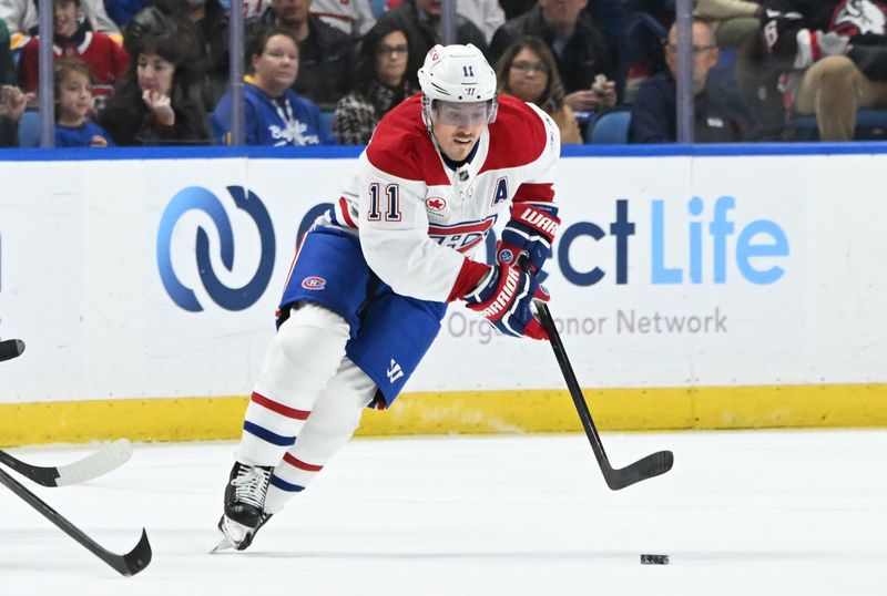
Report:
[[[530,309],[533,299],[547,302],[548,290],[539,285],[536,276],[510,265],[490,267],[480,285],[465,296],[466,306],[487,317],[502,333],[548,339]]]

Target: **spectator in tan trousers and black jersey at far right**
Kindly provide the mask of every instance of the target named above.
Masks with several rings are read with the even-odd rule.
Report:
[[[764,40],[788,116],[813,114],[822,141],[850,141],[860,107],[887,110],[887,6],[875,0],[783,2]]]

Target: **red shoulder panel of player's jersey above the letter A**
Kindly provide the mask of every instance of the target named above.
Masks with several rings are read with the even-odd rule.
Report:
[[[499,113],[489,130],[490,151],[481,172],[532,163],[548,144],[542,117],[527,103],[510,95],[500,95]]]

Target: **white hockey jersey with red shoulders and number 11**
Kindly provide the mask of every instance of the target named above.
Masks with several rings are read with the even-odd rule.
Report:
[[[554,122],[502,96],[473,158],[453,171],[421,119],[421,94],[379,122],[357,174],[319,223],[356,230],[373,271],[397,294],[449,301],[489,270],[470,257],[512,202],[551,203],[560,155]]]

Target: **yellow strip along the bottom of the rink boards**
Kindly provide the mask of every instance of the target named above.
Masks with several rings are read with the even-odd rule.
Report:
[[[887,427],[887,383],[587,389],[605,431]],[[0,445],[236,439],[247,398],[0,404]],[[358,435],[580,432],[567,391],[406,393]]]

